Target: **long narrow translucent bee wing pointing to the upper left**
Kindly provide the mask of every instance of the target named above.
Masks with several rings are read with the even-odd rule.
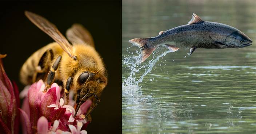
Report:
[[[28,17],[32,23],[34,23],[38,28],[47,33],[53,38],[60,46],[68,53],[70,57],[74,56],[72,53],[72,46],[69,44],[68,40],[60,33],[57,27],[50,23],[47,19],[35,13],[25,11],[25,15]]]

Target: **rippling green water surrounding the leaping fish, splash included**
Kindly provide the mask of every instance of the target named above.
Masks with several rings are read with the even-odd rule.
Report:
[[[255,1],[123,1],[122,133],[255,134]],[[241,49],[157,48],[139,63],[128,40],[154,37],[203,20],[240,29],[253,45]]]

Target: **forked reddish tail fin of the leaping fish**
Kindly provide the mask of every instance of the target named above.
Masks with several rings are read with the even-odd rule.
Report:
[[[140,47],[142,53],[141,62],[145,61],[156,49],[156,47],[149,45],[149,39],[150,38],[134,38],[129,40],[133,45]]]

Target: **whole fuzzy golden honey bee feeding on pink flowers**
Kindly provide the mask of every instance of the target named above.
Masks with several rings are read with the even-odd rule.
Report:
[[[62,98],[66,104],[69,92],[73,90],[75,93],[75,115],[82,103],[92,100],[92,106],[85,115],[87,117],[100,102],[99,97],[107,85],[104,63],[94,48],[91,34],[82,25],[73,24],[66,32],[71,45],[57,27],[44,17],[28,11],[25,11],[25,15],[56,42],[37,50],[25,61],[20,70],[21,82],[28,85],[45,80],[46,92],[53,82],[62,81]]]

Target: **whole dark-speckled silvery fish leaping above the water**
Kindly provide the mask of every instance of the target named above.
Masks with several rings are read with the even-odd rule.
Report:
[[[252,45],[252,40],[238,29],[222,23],[204,21],[195,13],[187,25],[161,31],[156,37],[133,38],[129,42],[140,47],[141,62],[160,45],[168,48],[170,52],[187,48],[189,56],[197,48],[243,48]]]

